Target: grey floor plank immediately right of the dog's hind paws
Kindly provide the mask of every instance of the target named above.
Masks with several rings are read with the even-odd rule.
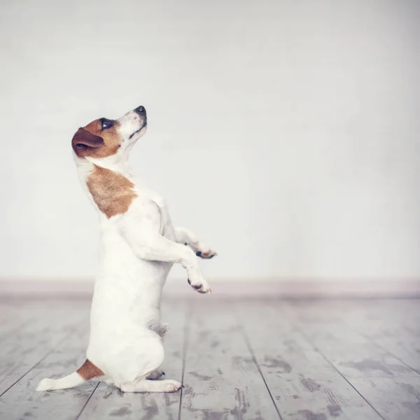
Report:
[[[190,322],[181,419],[278,419],[232,304],[197,296]]]

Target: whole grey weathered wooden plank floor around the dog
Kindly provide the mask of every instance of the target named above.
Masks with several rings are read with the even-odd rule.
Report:
[[[0,419],[420,419],[419,300],[164,302],[172,394],[90,382],[89,302],[0,303]]]

